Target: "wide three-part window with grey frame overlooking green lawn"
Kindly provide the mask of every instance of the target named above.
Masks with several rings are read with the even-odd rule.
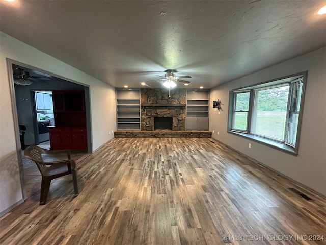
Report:
[[[306,75],[230,91],[228,131],[297,154]]]

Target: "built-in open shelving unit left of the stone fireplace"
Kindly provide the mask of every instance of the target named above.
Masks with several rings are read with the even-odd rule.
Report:
[[[141,128],[140,89],[117,89],[117,129]]]

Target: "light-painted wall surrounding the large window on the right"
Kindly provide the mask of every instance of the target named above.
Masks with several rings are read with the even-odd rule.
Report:
[[[227,133],[229,90],[308,70],[298,156]],[[222,111],[210,111],[212,137],[289,178],[326,195],[326,48],[288,60],[211,90]],[[219,131],[219,135],[217,134]],[[248,143],[252,144],[251,149]]]

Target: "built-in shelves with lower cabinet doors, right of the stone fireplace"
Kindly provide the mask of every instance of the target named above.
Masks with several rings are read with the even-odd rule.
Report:
[[[209,90],[187,90],[186,130],[208,130]]]

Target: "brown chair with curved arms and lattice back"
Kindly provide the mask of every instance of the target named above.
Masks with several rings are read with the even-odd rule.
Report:
[[[78,195],[77,168],[70,150],[46,150],[32,145],[25,149],[24,155],[36,163],[42,175],[40,205],[46,203],[51,180],[61,176],[72,174],[75,197]]]

